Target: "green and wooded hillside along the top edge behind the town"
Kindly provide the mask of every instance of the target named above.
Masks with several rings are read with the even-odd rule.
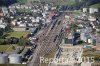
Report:
[[[66,5],[71,9],[80,9],[82,7],[88,7],[100,2],[100,0],[0,0],[0,6],[9,6],[13,3],[29,3],[32,1],[41,1],[45,3],[54,3],[55,5]],[[99,4],[91,7],[100,7]]]

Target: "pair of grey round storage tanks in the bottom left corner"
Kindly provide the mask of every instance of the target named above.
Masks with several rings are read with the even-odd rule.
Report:
[[[0,53],[0,64],[21,64],[22,55],[21,54],[6,54]]]

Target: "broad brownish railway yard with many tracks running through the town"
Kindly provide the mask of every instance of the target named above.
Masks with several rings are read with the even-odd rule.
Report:
[[[63,17],[59,17],[57,19],[62,19]],[[40,57],[48,54],[53,48],[56,47],[58,39],[61,37],[59,36],[61,29],[62,29],[62,23],[58,25],[58,22],[55,24],[54,28],[52,30],[51,24],[41,35],[38,37],[39,40],[37,42],[37,48],[33,54],[32,60],[28,63],[28,66],[40,66]],[[59,36],[57,38],[57,41],[54,42],[55,36]]]

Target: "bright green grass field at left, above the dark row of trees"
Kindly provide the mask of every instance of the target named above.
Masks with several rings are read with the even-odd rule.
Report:
[[[26,37],[27,34],[28,34],[28,32],[25,32],[25,31],[15,31],[15,32],[8,33],[7,38],[10,38],[10,37],[20,38],[22,36]]]

